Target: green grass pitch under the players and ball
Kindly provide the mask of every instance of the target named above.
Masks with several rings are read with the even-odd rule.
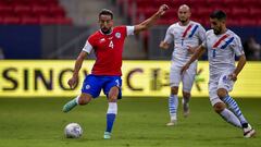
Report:
[[[261,147],[261,99],[236,99],[258,133],[247,139],[241,130],[213,112],[208,98],[192,98],[186,119],[179,102],[178,125],[173,127],[165,126],[166,98],[123,98],[110,140],[102,138],[105,98],[63,113],[67,100],[0,98],[0,147]],[[63,128],[70,122],[82,125],[80,138],[64,137]]]

